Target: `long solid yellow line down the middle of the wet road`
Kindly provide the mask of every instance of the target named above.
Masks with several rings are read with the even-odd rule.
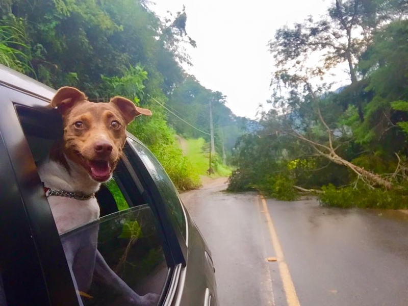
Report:
[[[284,252],[282,250],[281,243],[276,234],[275,226],[273,225],[271,215],[269,214],[268,206],[264,197],[262,199],[262,206],[265,211],[266,221],[268,222],[269,234],[271,236],[272,245],[276,252],[277,263],[279,267],[279,274],[281,274],[282,283],[284,285],[286,301],[288,306],[300,306],[299,299],[297,298],[295,285],[293,285],[292,277],[290,276],[289,267],[285,262]]]

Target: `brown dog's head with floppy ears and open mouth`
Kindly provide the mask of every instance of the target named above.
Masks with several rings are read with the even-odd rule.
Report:
[[[110,179],[122,156],[126,125],[136,116],[151,115],[123,97],[92,103],[73,87],[60,88],[51,106],[57,107],[63,118],[65,155],[100,183]]]

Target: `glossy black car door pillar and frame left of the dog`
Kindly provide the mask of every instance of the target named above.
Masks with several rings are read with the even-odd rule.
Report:
[[[7,192],[2,192],[0,198],[2,210],[12,216],[7,220],[0,218],[0,231],[4,237],[10,237],[1,239],[0,268],[17,264],[25,271],[3,277],[6,298],[12,305],[27,304],[27,301],[32,305],[79,304],[58,231],[15,110],[15,104],[31,104],[47,113],[44,100],[8,86],[0,86],[0,97],[0,133],[7,152],[6,156],[2,154],[2,160],[7,163],[8,159],[10,163],[10,169],[6,169],[10,177],[3,177]],[[23,252],[16,253],[21,248]],[[24,254],[27,255],[23,257]],[[27,277],[27,271],[36,279],[33,288],[18,285]],[[16,282],[14,286],[10,286],[9,277],[12,283]]]

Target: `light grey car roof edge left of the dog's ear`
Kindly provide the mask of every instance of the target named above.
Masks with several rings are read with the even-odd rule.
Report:
[[[51,87],[48,87],[36,80],[27,77],[20,72],[0,64],[0,85],[13,87],[19,91],[24,91],[45,100],[51,100],[56,93]]]

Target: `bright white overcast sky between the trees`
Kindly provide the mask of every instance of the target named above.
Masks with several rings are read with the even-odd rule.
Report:
[[[227,106],[239,116],[255,118],[266,109],[273,58],[267,43],[285,24],[326,12],[331,0],[152,0],[159,16],[186,6],[193,67],[185,67],[201,85],[227,96]]]

